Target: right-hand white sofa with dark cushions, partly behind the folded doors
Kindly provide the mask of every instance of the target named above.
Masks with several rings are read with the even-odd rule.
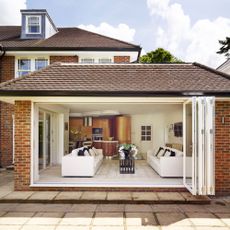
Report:
[[[149,150],[147,152],[148,164],[161,176],[161,177],[183,177],[183,152],[172,149],[169,147],[162,147],[164,150],[169,149],[175,152],[176,156],[155,156],[156,152]],[[192,159],[188,157],[186,165],[187,176],[192,175]]]

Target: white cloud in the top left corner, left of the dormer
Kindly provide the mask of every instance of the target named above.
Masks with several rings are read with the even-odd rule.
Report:
[[[26,9],[26,0],[0,0],[0,25],[20,25],[21,9]]]

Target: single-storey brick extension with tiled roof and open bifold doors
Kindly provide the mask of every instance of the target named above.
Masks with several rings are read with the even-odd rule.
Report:
[[[59,62],[2,83],[0,100],[15,106],[15,190],[230,194],[225,73]],[[123,165],[118,144],[137,146],[135,159]]]

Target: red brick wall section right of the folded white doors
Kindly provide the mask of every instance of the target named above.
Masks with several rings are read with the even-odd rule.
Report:
[[[216,194],[230,195],[230,101],[216,102],[215,116]]]

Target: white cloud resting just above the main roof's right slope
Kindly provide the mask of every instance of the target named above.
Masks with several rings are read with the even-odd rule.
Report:
[[[80,25],[78,27],[127,42],[133,42],[136,33],[135,29],[130,28],[126,24],[119,24],[117,27],[114,27],[106,22],[102,22],[99,26]]]

